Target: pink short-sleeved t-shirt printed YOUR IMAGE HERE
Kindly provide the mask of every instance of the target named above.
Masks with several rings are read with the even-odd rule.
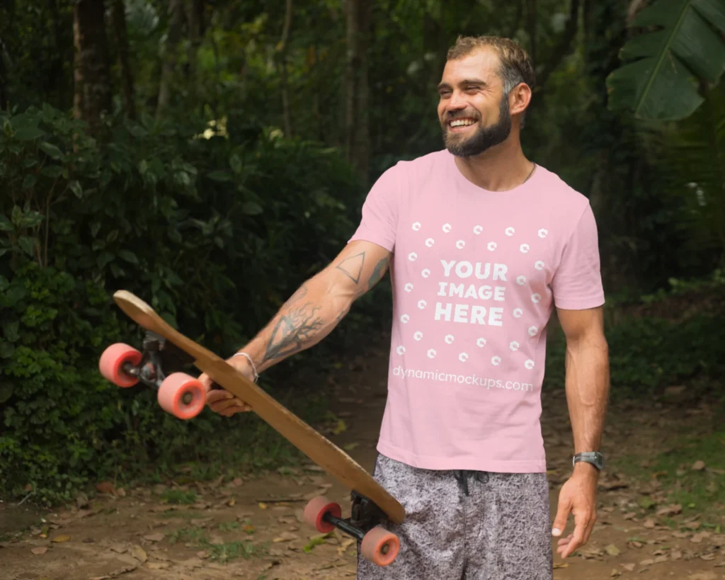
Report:
[[[541,166],[486,191],[444,149],[381,175],[352,240],[393,252],[378,451],[426,469],[546,471],[547,322],[555,305],[604,303],[587,198]]]

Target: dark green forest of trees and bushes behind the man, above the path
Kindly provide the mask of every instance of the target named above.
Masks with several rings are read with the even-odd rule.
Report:
[[[178,421],[101,378],[102,350],[139,336],[111,294],[230,355],[339,252],[378,175],[442,149],[435,87],[459,34],[534,59],[523,148],[594,207],[613,397],[724,393],[719,2],[5,0],[2,494],[57,502],[190,459],[201,477],[222,439],[240,468],[289,460],[261,422]],[[330,418],[327,373],[363,372],[355,344],[386,355],[389,294],[262,385]]]

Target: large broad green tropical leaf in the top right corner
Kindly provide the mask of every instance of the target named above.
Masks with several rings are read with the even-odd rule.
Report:
[[[658,0],[637,14],[645,31],[621,49],[624,66],[607,78],[610,109],[648,120],[677,120],[703,103],[698,81],[725,70],[725,2]]]

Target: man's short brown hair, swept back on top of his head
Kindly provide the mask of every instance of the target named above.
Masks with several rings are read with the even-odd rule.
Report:
[[[520,44],[510,38],[501,36],[459,36],[453,46],[448,50],[447,59],[457,60],[467,57],[468,54],[486,47],[494,49],[501,59],[499,76],[503,82],[503,92],[508,95],[512,88],[519,83],[526,83],[534,91],[537,75],[534,72],[534,63],[531,57]]]

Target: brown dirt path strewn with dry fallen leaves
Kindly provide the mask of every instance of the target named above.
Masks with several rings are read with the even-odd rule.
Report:
[[[344,375],[364,382],[334,386],[334,407],[348,428],[333,439],[368,469],[376,455],[384,408],[385,368],[384,358],[373,360],[367,368],[347,370]],[[605,439],[608,458],[615,465],[633,450],[639,455],[666,450],[671,437],[683,430],[708,428],[708,405],[675,400],[642,407],[632,402],[610,409]],[[544,394],[543,428],[553,512],[558,488],[570,471],[571,431],[563,392]],[[668,490],[658,483],[656,478],[639,483],[618,474],[616,468],[614,473],[608,470],[600,482],[600,518],[592,539],[566,563],[555,558],[555,578],[725,579],[725,535],[717,527],[725,523],[723,506],[716,505],[706,517],[697,513],[687,517],[679,513],[681,506],[668,505]],[[5,528],[0,532],[20,529],[20,520],[11,523],[17,516],[30,517],[33,523],[30,530],[0,544],[0,576],[7,580],[354,578],[355,545],[337,533],[313,542],[313,530],[300,522],[305,498],[320,491],[348,506],[347,492],[314,468],[225,483],[117,490],[115,495],[94,497],[84,508],[38,515],[23,511],[25,506],[0,503],[0,528]],[[170,505],[162,503],[162,497],[193,503]],[[705,527],[705,519],[710,527]]]

